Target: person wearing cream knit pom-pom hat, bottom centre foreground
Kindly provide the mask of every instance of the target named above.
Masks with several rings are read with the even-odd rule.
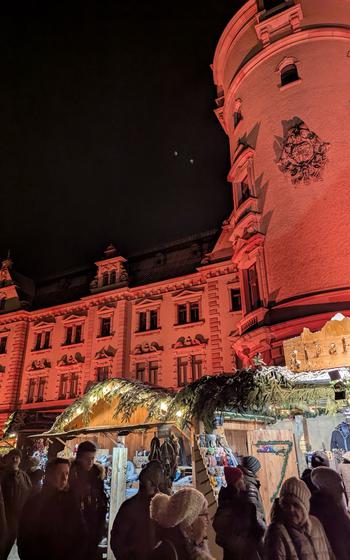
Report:
[[[151,519],[160,527],[159,543],[152,560],[214,560],[207,545],[208,502],[195,488],[173,494],[156,494]]]

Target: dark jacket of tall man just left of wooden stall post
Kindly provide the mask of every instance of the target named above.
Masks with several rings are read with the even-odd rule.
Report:
[[[99,543],[103,536],[106,514],[107,496],[104,491],[104,468],[94,464],[90,471],[84,471],[79,462],[72,463],[69,473],[69,487],[83,514],[88,538],[92,545]]]

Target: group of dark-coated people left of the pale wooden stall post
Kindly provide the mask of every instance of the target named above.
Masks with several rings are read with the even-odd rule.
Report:
[[[0,469],[0,560],[17,540],[21,560],[98,560],[107,497],[96,447],[85,441],[75,461],[56,458],[45,473],[21,469],[11,450]],[[42,483],[43,479],[43,483]]]

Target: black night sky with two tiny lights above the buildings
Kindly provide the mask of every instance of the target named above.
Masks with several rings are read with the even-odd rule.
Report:
[[[140,252],[230,213],[209,64],[239,4],[1,4],[0,254],[18,271],[90,265],[110,241]]]

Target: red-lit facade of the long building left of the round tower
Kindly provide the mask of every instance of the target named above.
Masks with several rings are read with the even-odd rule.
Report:
[[[192,359],[200,362],[198,375],[231,372],[230,334],[241,313],[231,310],[230,290],[237,285],[235,267],[226,259],[166,281],[1,315],[0,338],[7,342],[0,353],[0,427],[15,410],[63,410],[98,381],[99,372],[135,379],[142,364],[145,381],[175,389],[179,359],[187,362],[187,382]],[[198,317],[178,324],[178,306],[191,303],[198,304]],[[157,312],[156,328],[140,332],[139,314],[151,311]],[[109,333],[101,332],[106,319]],[[156,379],[149,377],[150,363]]]

